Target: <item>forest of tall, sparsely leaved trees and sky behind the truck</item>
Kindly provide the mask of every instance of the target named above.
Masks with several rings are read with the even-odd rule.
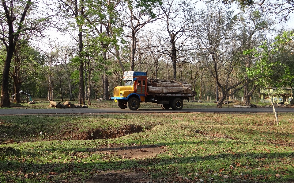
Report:
[[[292,1],[2,0],[0,107],[109,100],[124,71],[187,81],[200,100],[293,87]],[[61,35],[61,36],[60,36]],[[217,104],[221,107],[221,102]]]

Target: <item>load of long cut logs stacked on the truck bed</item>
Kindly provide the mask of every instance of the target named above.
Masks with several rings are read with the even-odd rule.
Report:
[[[170,81],[150,79],[147,83],[148,94],[183,94],[196,95],[196,92],[191,90],[192,85],[184,81]]]

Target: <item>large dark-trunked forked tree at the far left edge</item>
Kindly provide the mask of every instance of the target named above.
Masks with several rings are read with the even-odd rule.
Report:
[[[13,53],[15,51],[15,46],[19,41],[19,36],[21,33],[26,31],[38,31],[41,32],[43,27],[40,27],[40,22],[46,19],[32,19],[30,22],[25,22],[25,18],[28,15],[28,11],[33,5],[31,0],[28,1],[1,1],[2,17],[0,24],[2,25],[1,40],[6,46],[6,59],[4,62],[3,74],[2,74],[2,84],[1,84],[1,102],[0,107],[10,107],[9,98],[9,69],[11,60],[13,58]],[[21,14],[18,14],[19,10],[16,7],[22,8]],[[48,19],[47,19],[48,20]],[[14,22],[17,21],[15,25]],[[45,21],[44,21],[45,22]],[[46,24],[46,23],[45,23]],[[44,25],[44,24],[42,24]],[[15,29],[16,28],[16,29]],[[16,30],[16,31],[14,31]]]

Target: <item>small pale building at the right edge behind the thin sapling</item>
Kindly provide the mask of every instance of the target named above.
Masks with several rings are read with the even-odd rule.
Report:
[[[293,104],[293,88],[268,88],[269,95],[266,88],[260,88],[260,101],[269,103],[270,100],[275,103]]]

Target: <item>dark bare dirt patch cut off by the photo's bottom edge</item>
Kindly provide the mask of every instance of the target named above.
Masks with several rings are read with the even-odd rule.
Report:
[[[95,177],[86,183],[136,183],[136,182],[150,182],[149,175],[141,171],[117,170],[99,172]]]

